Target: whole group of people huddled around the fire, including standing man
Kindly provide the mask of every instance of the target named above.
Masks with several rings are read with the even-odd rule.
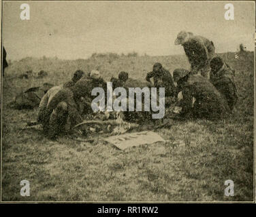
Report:
[[[234,70],[214,55],[214,45],[208,39],[180,32],[175,43],[184,47],[191,64],[189,71],[177,68],[172,77],[157,62],[153,71],[146,75],[146,81],[131,79],[122,71],[118,78],[110,80],[113,88],[164,87],[165,98],[170,99],[165,100],[165,109],[175,103],[180,108],[176,116],[180,119],[223,119],[229,115],[238,100]],[[71,81],[46,92],[39,103],[37,122],[43,125],[49,138],[71,133],[72,127],[83,121],[84,115],[93,113],[91,92],[94,87],[107,88],[99,71],[84,73],[78,70]],[[125,117],[129,120],[130,116]]]

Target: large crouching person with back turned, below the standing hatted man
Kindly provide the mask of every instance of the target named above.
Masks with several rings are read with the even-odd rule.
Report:
[[[222,119],[230,112],[227,101],[205,77],[178,68],[174,70],[174,81],[182,92],[181,117]]]

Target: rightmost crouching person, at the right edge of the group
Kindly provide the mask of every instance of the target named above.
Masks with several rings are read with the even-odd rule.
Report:
[[[223,62],[220,57],[212,58],[210,68],[210,82],[223,94],[232,111],[238,100],[238,93],[234,81],[234,70]]]

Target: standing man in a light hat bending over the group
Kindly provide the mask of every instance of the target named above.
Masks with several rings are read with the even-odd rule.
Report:
[[[183,46],[191,64],[191,73],[201,73],[203,77],[209,79],[210,60],[215,54],[212,41],[199,35],[193,35],[193,33],[181,31],[174,44]]]

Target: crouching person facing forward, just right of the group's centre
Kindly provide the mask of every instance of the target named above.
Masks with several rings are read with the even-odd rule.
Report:
[[[154,87],[165,87],[165,96],[175,96],[176,87],[169,71],[163,68],[162,64],[156,62],[153,71],[146,75],[146,81],[150,82],[153,77]]]

